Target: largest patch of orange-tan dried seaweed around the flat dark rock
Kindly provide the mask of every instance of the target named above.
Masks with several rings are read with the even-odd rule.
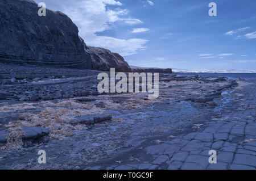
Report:
[[[20,118],[24,120],[12,121],[5,127],[44,127],[49,129],[49,136],[64,140],[66,137],[73,136],[74,130],[86,129],[85,127],[77,127],[69,124],[78,116],[90,115],[94,113],[104,113],[94,105],[91,104],[72,104],[72,102],[65,102],[55,104],[55,106],[80,106],[83,108],[65,108],[65,107],[46,107],[39,113],[22,113]],[[82,128],[81,128],[82,127]]]

